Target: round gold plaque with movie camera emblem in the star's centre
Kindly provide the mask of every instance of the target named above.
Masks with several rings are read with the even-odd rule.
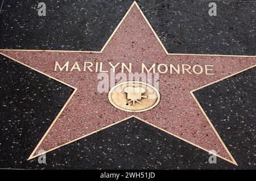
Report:
[[[122,111],[143,112],[158,105],[159,91],[144,82],[123,82],[109,91],[110,103]]]

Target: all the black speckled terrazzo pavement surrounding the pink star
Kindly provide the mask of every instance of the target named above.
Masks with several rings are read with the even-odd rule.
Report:
[[[39,17],[38,1],[5,1],[0,49],[100,50],[131,5],[74,2],[47,1]],[[208,2],[137,2],[170,53],[256,54],[255,3],[216,2],[210,17]],[[27,162],[73,90],[3,56],[0,70],[0,168],[255,169],[255,69],[195,92],[238,167],[136,119]]]

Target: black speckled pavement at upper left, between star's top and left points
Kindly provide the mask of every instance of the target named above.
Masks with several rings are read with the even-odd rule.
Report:
[[[38,3],[5,1],[0,49],[100,50],[131,5],[131,1],[47,0],[46,16],[38,16]]]

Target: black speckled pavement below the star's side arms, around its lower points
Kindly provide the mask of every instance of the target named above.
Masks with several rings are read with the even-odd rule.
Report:
[[[137,119],[53,150],[39,164],[26,159],[73,90],[3,56],[0,63],[0,168],[255,169],[255,69],[195,93],[238,167],[220,158],[210,164],[206,151]]]

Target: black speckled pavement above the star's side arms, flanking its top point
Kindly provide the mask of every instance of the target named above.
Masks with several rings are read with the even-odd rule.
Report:
[[[252,2],[254,0],[251,0]],[[100,50],[132,1],[5,1],[0,48]],[[137,1],[170,53],[255,55],[256,3],[196,0]]]

